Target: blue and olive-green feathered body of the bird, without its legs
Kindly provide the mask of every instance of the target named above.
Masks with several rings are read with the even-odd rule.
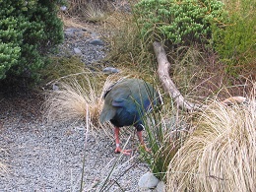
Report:
[[[105,95],[100,122],[110,120],[117,127],[142,123],[141,116],[157,104],[158,93],[152,85],[139,79],[124,79]]]

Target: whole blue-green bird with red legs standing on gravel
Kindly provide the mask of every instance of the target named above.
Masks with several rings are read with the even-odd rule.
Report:
[[[160,104],[160,95],[156,89],[141,79],[122,79],[110,86],[103,97],[99,121],[101,124],[110,121],[114,126],[114,152],[130,155],[131,150],[122,150],[120,146],[119,131],[124,126],[134,126],[141,146],[149,151],[142,136],[143,118],[154,106]]]

